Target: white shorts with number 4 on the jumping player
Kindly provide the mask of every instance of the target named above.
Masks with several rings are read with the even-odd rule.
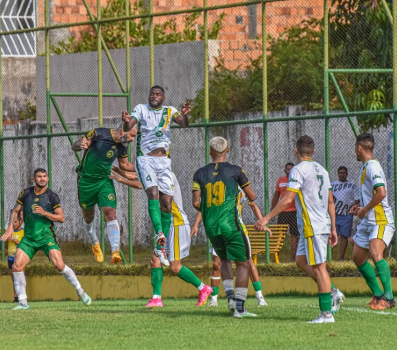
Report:
[[[171,159],[167,156],[139,156],[135,169],[143,189],[156,186],[163,194],[173,196]]]

